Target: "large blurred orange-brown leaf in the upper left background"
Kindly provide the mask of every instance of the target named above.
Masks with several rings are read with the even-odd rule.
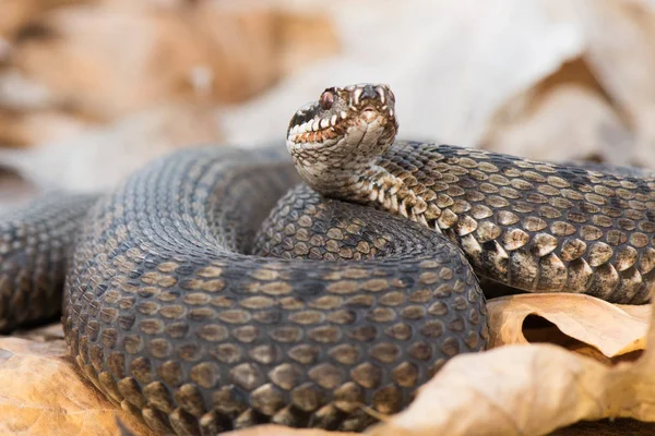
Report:
[[[14,45],[11,71],[60,109],[104,121],[163,101],[243,101],[338,50],[326,19],[257,1],[103,2],[37,16],[44,32]]]

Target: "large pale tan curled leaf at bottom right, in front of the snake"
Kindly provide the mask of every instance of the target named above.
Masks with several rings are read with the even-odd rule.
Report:
[[[630,390],[609,396],[612,377],[611,367],[550,344],[462,355],[372,435],[543,435],[607,416]]]

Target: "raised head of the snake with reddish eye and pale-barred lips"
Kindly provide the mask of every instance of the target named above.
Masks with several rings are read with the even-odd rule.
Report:
[[[389,149],[397,129],[389,85],[330,87],[294,114],[286,144],[300,177],[330,195],[370,168]]]

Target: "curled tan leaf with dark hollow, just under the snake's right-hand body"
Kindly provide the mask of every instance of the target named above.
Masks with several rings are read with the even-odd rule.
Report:
[[[651,306],[615,305],[588,295],[539,293],[503,296],[489,301],[489,348],[510,343],[555,341],[579,350],[579,342],[590,344],[607,358],[643,350],[648,329]],[[552,323],[557,328],[527,327],[532,315]],[[575,339],[563,341],[557,329]],[[605,360],[603,360],[605,361]]]

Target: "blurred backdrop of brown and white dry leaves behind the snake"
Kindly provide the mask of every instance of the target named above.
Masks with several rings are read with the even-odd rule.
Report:
[[[0,0],[0,210],[358,82],[401,138],[655,168],[655,0]]]

